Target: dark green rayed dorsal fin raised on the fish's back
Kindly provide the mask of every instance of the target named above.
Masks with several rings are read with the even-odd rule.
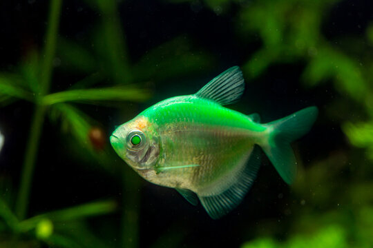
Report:
[[[242,72],[238,66],[233,66],[204,85],[195,93],[195,96],[216,101],[220,105],[227,105],[240,99],[244,90]]]

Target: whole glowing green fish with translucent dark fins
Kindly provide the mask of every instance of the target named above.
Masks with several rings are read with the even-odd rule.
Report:
[[[192,205],[198,199],[213,219],[237,207],[258,174],[262,151],[291,184],[297,162],[290,143],[307,134],[316,106],[260,123],[224,105],[245,90],[238,66],[216,76],[197,93],[175,96],[119,125],[110,137],[115,152],[137,174],[176,189]]]

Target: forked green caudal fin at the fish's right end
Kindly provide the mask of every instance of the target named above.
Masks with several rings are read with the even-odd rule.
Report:
[[[296,177],[296,159],[290,147],[291,141],[305,135],[316,121],[317,107],[306,107],[294,114],[267,123],[271,127],[268,145],[262,146],[265,154],[286,183]]]

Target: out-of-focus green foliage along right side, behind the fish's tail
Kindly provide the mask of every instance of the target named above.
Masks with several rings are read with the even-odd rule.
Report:
[[[169,2],[195,4],[192,0]],[[322,27],[339,0],[198,2],[216,14],[239,6],[236,34],[242,43],[261,43],[242,66],[247,79],[259,79],[272,66],[298,63],[304,65],[300,81],[305,87],[332,83],[339,95],[320,106],[321,114],[340,123],[350,143],[365,149],[365,157],[370,159],[352,149],[337,150],[312,162],[293,186],[296,206],[283,209],[291,225],[287,242],[274,238],[284,235],[276,228],[278,220],[268,220],[270,228],[266,224],[256,228],[271,230],[267,238],[242,247],[372,247],[373,24],[367,26],[365,37],[349,34],[331,39],[325,37]],[[348,177],[349,172],[353,176]],[[266,231],[256,233],[265,235]]]

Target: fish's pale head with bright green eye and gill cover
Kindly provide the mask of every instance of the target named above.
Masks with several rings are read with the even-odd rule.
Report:
[[[110,142],[115,152],[135,170],[153,169],[160,156],[157,132],[144,116],[117,127]]]

